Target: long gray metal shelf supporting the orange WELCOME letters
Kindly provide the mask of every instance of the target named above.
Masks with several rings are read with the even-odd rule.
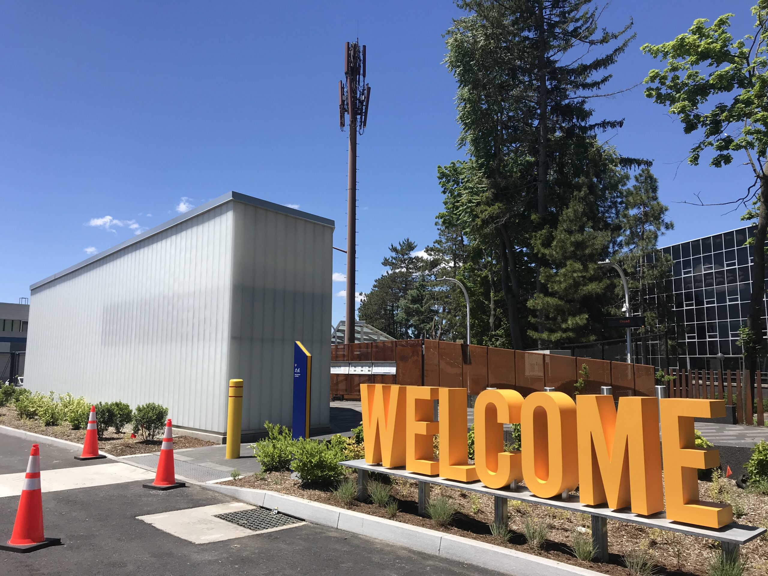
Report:
[[[419,482],[420,515],[423,515],[426,511],[426,502],[429,500],[429,486],[435,484],[448,486],[449,488],[458,488],[459,490],[465,490],[467,492],[478,492],[479,494],[494,497],[498,496],[498,498],[502,499],[508,498],[510,500],[519,500],[521,502],[530,502],[531,504],[559,508],[561,510],[578,512],[580,514],[588,514],[593,518],[598,517],[607,520],[617,520],[628,522],[630,524],[647,526],[648,528],[659,528],[660,530],[679,532],[680,534],[697,536],[698,538],[709,538],[710,540],[721,542],[723,545],[723,552],[729,551],[729,553],[732,550],[732,547],[728,546],[729,544],[735,545],[738,551],[738,546],[753,541],[755,538],[760,538],[760,536],[766,533],[766,528],[746,526],[737,524],[736,522],[723,526],[723,528],[705,528],[703,526],[681,524],[680,522],[667,520],[667,516],[664,512],[643,516],[634,514],[626,508],[612,510],[605,505],[588,506],[579,502],[578,496],[575,495],[569,495],[568,498],[561,498],[560,495],[558,495],[557,498],[539,498],[521,486],[518,486],[515,490],[512,490],[511,488],[488,488],[483,485],[482,482],[457,482],[447,478],[440,478],[439,476],[425,476],[422,474],[415,474],[414,472],[408,472],[403,468],[384,468],[382,465],[368,464],[362,459],[339,463],[348,468],[356,468],[358,470],[365,470],[366,472],[377,472],[379,474],[397,476],[399,478],[407,478]],[[607,540],[607,531],[605,532],[605,540]]]

